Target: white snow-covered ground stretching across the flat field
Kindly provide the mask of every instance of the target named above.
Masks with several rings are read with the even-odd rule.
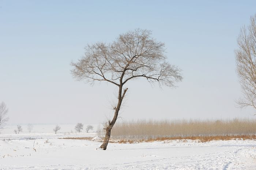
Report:
[[[1,130],[0,170],[256,170],[255,140],[109,143],[104,151],[97,149],[98,141],[59,139],[97,133],[69,132],[74,125],[61,125],[55,135],[46,131],[50,128],[39,131],[42,126],[34,126],[33,133]]]

